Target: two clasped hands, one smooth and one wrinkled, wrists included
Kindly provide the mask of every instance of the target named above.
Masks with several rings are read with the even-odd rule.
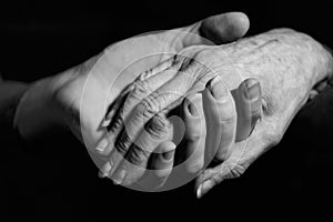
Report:
[[[33,84],[16,125],[27,138],[68,125],[115,183],[167,190],[198,176],[201,196],[276,144],[332,72],[330,53],[305,34],[239,40],[249,23],[224,13],[114,43]]]

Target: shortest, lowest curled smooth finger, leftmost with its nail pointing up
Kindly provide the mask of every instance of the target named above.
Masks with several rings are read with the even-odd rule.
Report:
[[[145,190],[158,190],[163,186],[172,172],[175,144],[171,141],[162,142],[152,153],[151,170],[139,181]]]

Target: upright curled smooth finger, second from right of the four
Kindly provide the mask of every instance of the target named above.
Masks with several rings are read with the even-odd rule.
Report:
[[[208,121],[206,161],[225,160],[234,143],[238,115],[234,100],[221,78],[208,82],[203,107]]]

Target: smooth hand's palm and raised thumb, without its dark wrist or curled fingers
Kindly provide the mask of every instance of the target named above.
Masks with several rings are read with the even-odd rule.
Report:
[[[248,29],[248,17],[231,12],[184,28],[138,36],[110,46],[101,54],[57,77],[51,88],[68,125],[84,141],[95,163],[102,167],[107,159],[100,159],[94,148],[107,131],[101,128],[107,108],[139,73],[186,47],[234,41]],[[151,75],[158,71],[144,73]]]

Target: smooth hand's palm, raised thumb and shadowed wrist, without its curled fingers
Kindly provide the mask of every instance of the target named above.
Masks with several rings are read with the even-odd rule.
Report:
[[[18,108],[16,124],[22,135],[29,137],[51,122],[61,122],[95,153],[97,142],[105,133],[100,124],[107,107],[139,73],[186,47],[234,41],[248,29],[248,17],[231,12],[112,44],[83,64],[34,83]],[[100,165],[99,155],[93,158]]]

